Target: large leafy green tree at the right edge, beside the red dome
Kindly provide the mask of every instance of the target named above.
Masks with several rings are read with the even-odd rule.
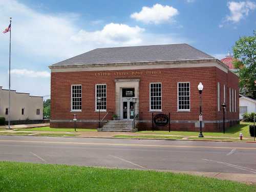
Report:
[[[233,65],[238,70],[240,91],[256,99],[256,30],[253,36],[240,37],[233,46]]]

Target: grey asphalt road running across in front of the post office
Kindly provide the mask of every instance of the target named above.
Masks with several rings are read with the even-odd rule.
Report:
[[[256,176],[256,143],[0,136],[0,161]]]

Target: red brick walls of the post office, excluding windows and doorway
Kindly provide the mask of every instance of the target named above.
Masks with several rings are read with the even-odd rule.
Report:
[[[132,74],[127,75],[126,72]],[[114,75],[115,72],[120,72]],[[155,74],[156,72],[156,74]],[[71,112],[71,85],[82,85],[82,112],[76,112],[77,119],[97,120],[98,113],[95,112],[95,84],[107,84],[107,112],[109,115],[105,119],[111,119],[111,115],[115,114],[115,79],[139,78],[139,112],[140,120],[151,120],[152,113],[149,111],[149,93],[150,82],[162,83],[162,113],[171,113],[172,120],[198,120],[199,115],[199,93],[198,83],[204,85],[202,93],[202,111],[203,119],[208,121],[221,120],[222,113],[217,109],[217,82],[220,82],[221,88],[223,83],[227,87],[238,90],[238,78],[232,73],[225,72],[215,67],[202,68],[176,68],[176,69],[152,69],[152,70],[124,70],[111,71],[111,75],[95,75],[94,71],[90,72],[58,72],[51,73],[51,119],[52,120],[68,120],[73,119]],[[121,74],[123,73],[123,74]],[[160,74],[159,74],[160,73]],[[177,82],[190,82],[190,112],[177,112]],[[221,101],[223,101],[223,89],[221,89]],[[237,92],[237,102],[238,99]],[[228,97],[226,96],[226,100]],[[222,102],[221,102],[222,103]],[[237,104],[239,109],[239,104]],[[101,113],[101,118],[106,113]],[[239,119],[239,110],[237,113],[228,114],[227,119]],[[97,127],[95,123],[79,123],[80,127]],[[148,123],[151,124],[151,123]],[[212,124],[212,125],[211,125]],[[218,123],[205,123],[205,129],[218,131]],[[51,126],[65,127],[66,123],[53,123]],[[147,124],[141,124],[150,129]],[[151,125],[150,125],[151,126]],[[195,123],[174,123],[175,129],[198,130]]]

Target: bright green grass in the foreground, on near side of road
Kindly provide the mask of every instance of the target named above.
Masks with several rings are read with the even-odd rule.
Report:
[[[0,191],[256,191],[255,185],[131,169],[0,162]]]

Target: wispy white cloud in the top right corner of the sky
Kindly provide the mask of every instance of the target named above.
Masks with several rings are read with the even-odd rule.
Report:
[[[228,2],[230,15],[226,16],[227,22],[238,23],[242,18],[248,16],[250,11],[256,8],[256,4],[250,1],[245,2]]]

